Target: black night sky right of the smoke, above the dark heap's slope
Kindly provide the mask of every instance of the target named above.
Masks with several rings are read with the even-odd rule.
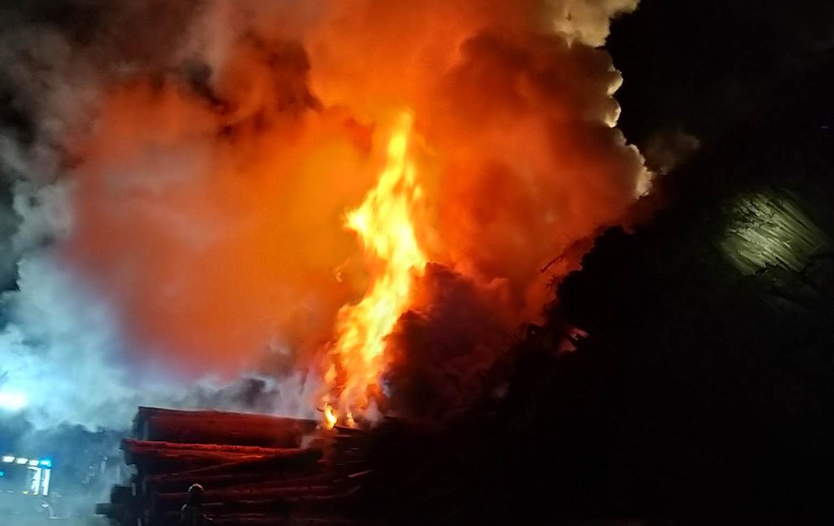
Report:
[[[616,97],[631,141],[676,128],[709,140],[830,60],[834,3],[644,0],[615,20],[608,48],[625,77]]]

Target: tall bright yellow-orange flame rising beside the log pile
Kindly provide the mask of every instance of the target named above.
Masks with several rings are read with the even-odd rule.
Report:
[[[422,190],[409,151],[412,127],[411,113],[404,112],[391,133],[377,185],[347,214],[345,227],[359,237],[372,275],[363,299],[339,310],[333,365],[325,375],[339,402],[338,412],[326,405],[328,421],[329,414],[334,419],[344,414],[351,424],[354,414],[372,403],[369,391],[379,387],[385,366],[385,338],[408,308],[415,277],[425,271],[426,256],[414,231],[414,204]]]

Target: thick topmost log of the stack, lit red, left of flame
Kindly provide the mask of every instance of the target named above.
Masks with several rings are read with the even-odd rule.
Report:
[[[268,414],[180,411],[140,407],[133,436],[142,440],[188,444],[233,444],[274,448],[299,447],[319,422]]]

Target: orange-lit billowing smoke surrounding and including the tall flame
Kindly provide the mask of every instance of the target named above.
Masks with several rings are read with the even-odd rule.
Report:
[[[302,380],[280,410],[328,427],[414,385],[459,406],[628,220],[647,172],[597,46],[631,3],[208,2],[55,127],[60,255],[148,375]]]

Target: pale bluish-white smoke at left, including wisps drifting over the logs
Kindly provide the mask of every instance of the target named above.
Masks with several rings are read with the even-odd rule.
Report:
[[[18,288],[0,296],[6,317],[0,394],[25,399],[25,418],[40,429],[64,423],[125,429],[140,404],[314,416],[305,402],[317,384],[302,374],[183,383],[164,370],[129,363],[129,344],[111,305],[53,250],[53,241],[72,230],[68,190],[63,181],[14,186],[19,223],[10,245]],[[7,411],[17,409],[7,405]]]

